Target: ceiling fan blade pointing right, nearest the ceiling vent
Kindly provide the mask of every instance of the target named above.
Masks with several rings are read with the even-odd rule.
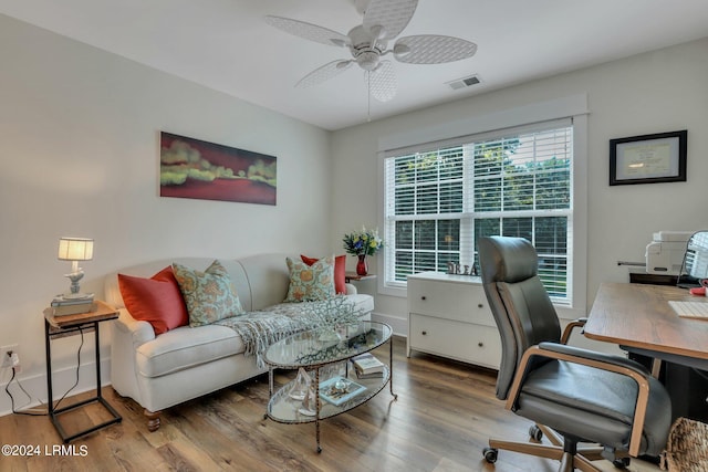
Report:
[[[421,34],[396,41],[394,57],[408,64],[441,64],[475,55],[477,44],[460,38]]]

